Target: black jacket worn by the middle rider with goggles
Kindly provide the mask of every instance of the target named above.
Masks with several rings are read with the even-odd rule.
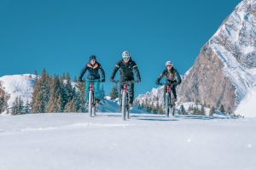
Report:
[[[137,79],[141,80],[140,72],[137,69],[137,64],[132,59],[130,59],[128,63],[125,63],[123,59],[119,60],[113,69],[113,73],[110,77],[111,79],[114,78],[118,70],[120,71],[121,82],[134,80],[133,71],[136,73]]]

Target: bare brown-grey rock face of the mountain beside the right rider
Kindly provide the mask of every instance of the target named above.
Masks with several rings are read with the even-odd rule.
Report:
[[[207,44],[177,88],[180,102],[198,101],[216,108],[224,105],[227,111],[234,111],[236,88],[224,76],[223,68],[223,62]]]

